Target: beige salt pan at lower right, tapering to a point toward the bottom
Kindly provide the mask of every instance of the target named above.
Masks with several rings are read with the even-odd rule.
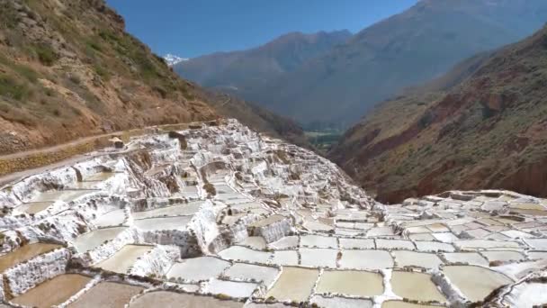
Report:
[[[513,282],[507,276],[485,267],[450,266],[444,267],[443,272],[471,302],[481,301],[499,286]]]

